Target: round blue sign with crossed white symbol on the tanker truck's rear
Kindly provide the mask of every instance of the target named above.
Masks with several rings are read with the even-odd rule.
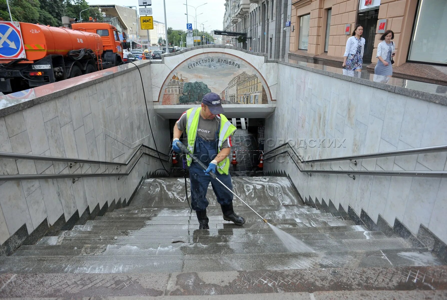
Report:
[[[25,57],[19,22],[0,22],[0,59]]]

